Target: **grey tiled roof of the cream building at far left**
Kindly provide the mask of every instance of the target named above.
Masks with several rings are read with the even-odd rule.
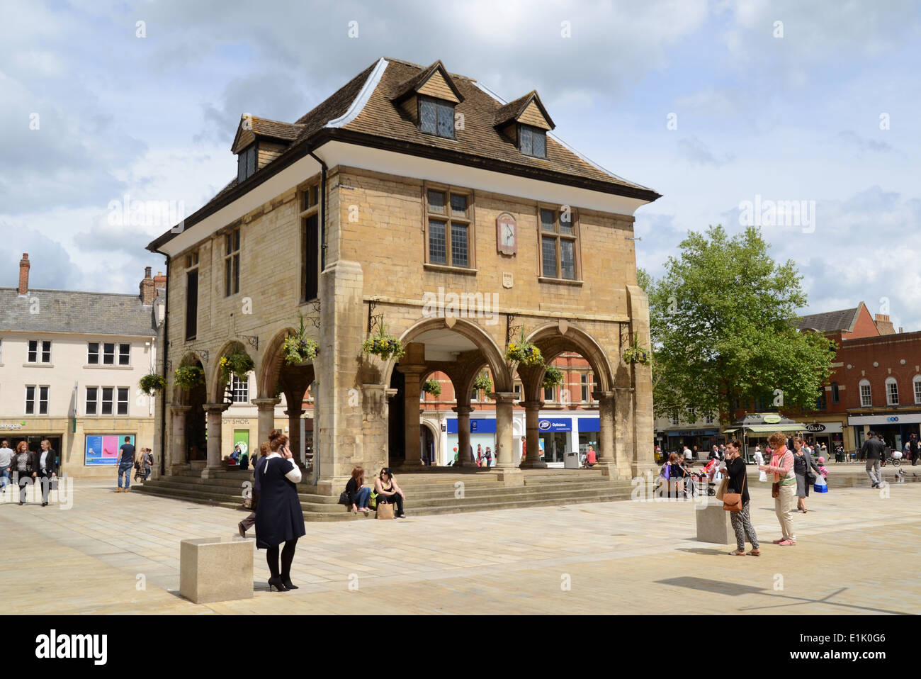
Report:
[[[31,313],[38,300],[38,313]],[[0,287],[0,331],[156,336],[153,307],[137,295]]]

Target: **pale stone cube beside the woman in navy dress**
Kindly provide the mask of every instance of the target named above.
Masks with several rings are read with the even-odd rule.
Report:
[[[179,593],[193,603],[252,598],[252,539],[182,540]]]

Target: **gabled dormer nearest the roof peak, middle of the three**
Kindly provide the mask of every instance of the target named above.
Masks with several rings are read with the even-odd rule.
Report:
[[[454,107],[463,101],[463,95],[440,61],[402,83],[391,101],[413,120],[420,132],[455,138]]]

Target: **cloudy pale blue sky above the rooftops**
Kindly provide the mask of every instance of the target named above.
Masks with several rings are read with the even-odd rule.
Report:
[[[257,9],[258,7],[258,9]],[[236,176],[240,115],[293,122],[380,56],[441,59],[662,197],[636,211],[661,275],[688,230],[775,226],[809,306],[921,330],[921,5],[901,0],[336,3],[5,0],[0,286],[134,292],[172,226]],[[155,216],[156,217],[156,216]]]

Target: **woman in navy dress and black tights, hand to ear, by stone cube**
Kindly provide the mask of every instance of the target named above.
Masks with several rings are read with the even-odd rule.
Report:
[[[269,435],[271,452],[262,462],[259,474],[259,506],[256,508],[256,547],[265,549],[269,565],[269,591],[297,590],[291,582],[291,563],[297,548],[297,538],[307,531],[304,528],[304,510],[297,498],[300,468],[287,447],[288,438],[277,429]],[[281,568],[279,568],[279,546]]]

